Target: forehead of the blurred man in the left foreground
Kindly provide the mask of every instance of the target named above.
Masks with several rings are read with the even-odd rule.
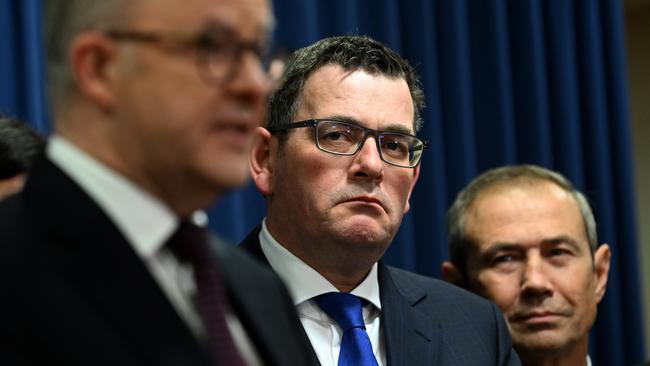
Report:
[[[243,38],[266,35],[273,26],[268,0],[136,0],[128,2],[131,24],[196,29],[218,23]]]

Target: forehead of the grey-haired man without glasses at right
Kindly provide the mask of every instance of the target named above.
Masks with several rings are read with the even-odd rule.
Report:
[[[534,246],[563,235],[589,245],[578,203],[549,182],[486,189],[470,205],[465,226],[480,249],[495,243]]]

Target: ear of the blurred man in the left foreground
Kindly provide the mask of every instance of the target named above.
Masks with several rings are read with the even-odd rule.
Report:
[[[101,32],[80,34],[70,48],[79,92],[101,109],[109,109],[115,102],[111,81],[117,52],[115,43]]]

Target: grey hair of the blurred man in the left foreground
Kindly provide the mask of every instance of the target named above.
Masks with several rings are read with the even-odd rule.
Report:
[[[46,0],[43,39],[47,54],[48,95],[55,114],[75,93],[70,46],[80,33],[122,21],[128,0]]]

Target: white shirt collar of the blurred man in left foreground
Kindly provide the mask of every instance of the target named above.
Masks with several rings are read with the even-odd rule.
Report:
[[[104,210],[139,256],[153,256],[178,226],[162,201],[65,138],[52,136],[46,154]]]

